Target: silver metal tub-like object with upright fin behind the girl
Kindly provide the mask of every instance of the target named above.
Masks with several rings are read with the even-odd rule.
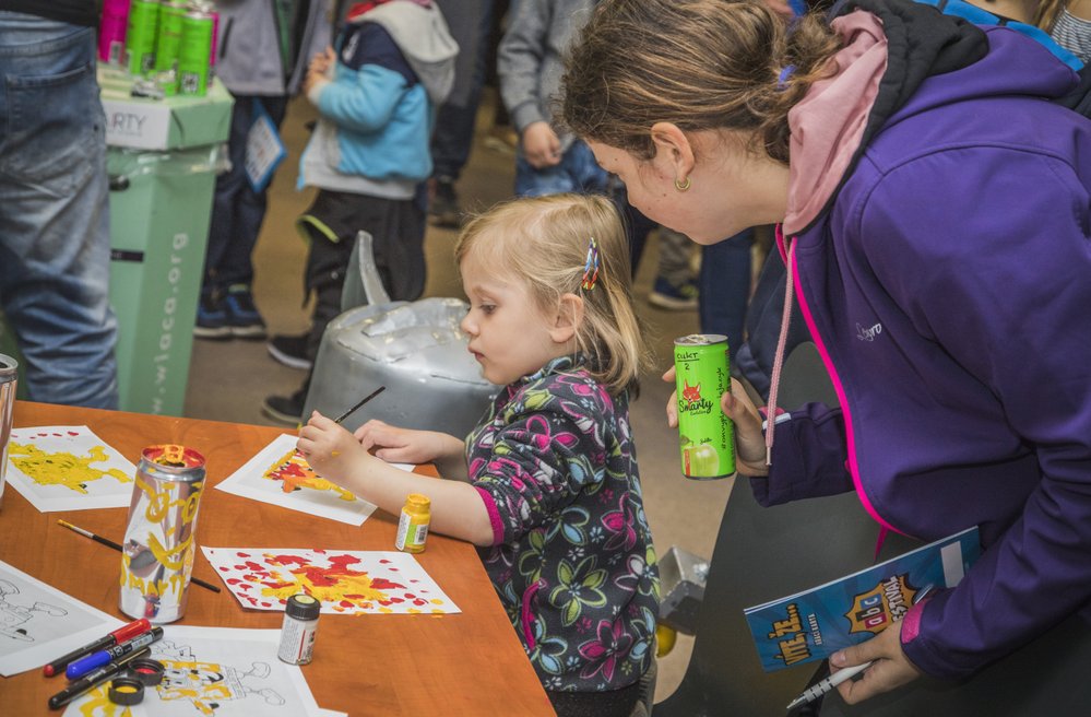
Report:
[[[379,279],[371,235],[356,235],[356,272],[345,280],[342,307],[322,334],[304,416],[336,416],[379,386],[387,390],[342,422],[349,431],[370,419],[464,437],[482,419],[498,387],[481,375],[459,329],[460,298],[392,302]],[[352,261],[349,261],[352,263]],[[361,284],[361,285],[360,285]]]

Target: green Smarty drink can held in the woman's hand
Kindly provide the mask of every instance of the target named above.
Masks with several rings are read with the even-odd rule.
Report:
[[[727,337],[693,333],[674,342],[681,472],[703,480],[735,474],[735,431],[720,409],[731,390]]]

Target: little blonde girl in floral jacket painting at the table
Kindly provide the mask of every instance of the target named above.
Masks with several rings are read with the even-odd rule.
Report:
[[[628,717],[660,587],[629,426],[648,353],[620,220],[602,197],[515,200],[473,220],[455,259],[470,352],[503,386],[481,424],[464,443],[380,421],[354,436],[315,412],[299,450],[389,513],[427,495],[432,530],[479,546],[557,713]]]

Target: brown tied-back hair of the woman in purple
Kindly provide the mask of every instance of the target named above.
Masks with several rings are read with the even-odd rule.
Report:
[[[790,33],[762,2],[603,0],[566,59],[561,121],[641,160],[656,122],[742,130],[787,163],[787,113],[840,47],[820,16]]]

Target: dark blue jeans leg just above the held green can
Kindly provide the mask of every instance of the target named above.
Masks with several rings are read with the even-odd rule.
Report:
[[[727,337],[732,360],[743,345],[746,305],[750,297],[750,247],[754,230],[745,230],[701,250],[700,303],[702,333]]]

